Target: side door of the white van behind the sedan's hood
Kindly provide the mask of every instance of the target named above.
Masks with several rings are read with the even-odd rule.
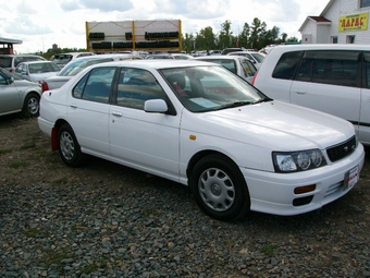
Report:
[[[289,89],[291,102],[331,113],[358,128],[359,51],[306,51]]]

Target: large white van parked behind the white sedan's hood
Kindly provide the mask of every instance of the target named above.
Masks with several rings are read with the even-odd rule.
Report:
[[[370,145],[369,45],[274,47],[252,85],[271,98],[348,120]]]

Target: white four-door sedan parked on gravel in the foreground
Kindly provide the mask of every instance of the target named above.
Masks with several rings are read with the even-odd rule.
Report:
[[[348,193],[365,152],[340,118],[272,100],[195,60],[91,65],[40,102],[71,167],[97,156],[189,185],[210,217],[297,215]]]

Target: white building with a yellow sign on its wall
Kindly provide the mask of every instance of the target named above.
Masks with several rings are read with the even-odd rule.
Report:
[[[330,0],[298,29],[301,44],[370,44],[370,0]]]

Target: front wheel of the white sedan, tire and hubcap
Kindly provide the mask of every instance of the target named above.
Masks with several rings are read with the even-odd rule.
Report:
[[[211,218],[232,221],[250,210],[247,183],[237,166],[221,155],[209,155],[194,167],[190,190],[198,206]]]

